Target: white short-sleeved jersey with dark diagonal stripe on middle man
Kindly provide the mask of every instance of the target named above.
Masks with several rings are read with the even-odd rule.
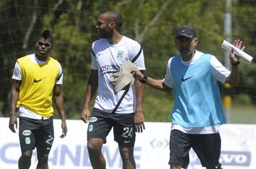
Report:
[[[134,58],[134,66],[139,70],[145,70],[144,54],[141,45],[129,37],[122,37],[122,40],[115,45],[107,39],[96,40],[92,43],[91,68],[98,72],[98,91],[95,100],[95,107],[104,112],[111,113],[117,105],[124,91],[114,95],[110,83],[110,76],[119,71],[120,67]],[[129,88],[121,104],[115,113],[133,113],[136,110],[136,91],[134,85]]]

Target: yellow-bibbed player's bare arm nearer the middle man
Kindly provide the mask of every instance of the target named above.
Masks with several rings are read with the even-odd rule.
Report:
[[[62,95],[62,90],[60,85],[55,85],[53,88],[53,100],[54,103],[57,107],[58,113],[60,115],[61,119],[61,128],[63,129],[62,134],[60,135],[60,138],[63,138],[67,135],[68,128],[67,124],[65,122],[65,111],[64,111],[64,106],[63,106],[63,95]]]

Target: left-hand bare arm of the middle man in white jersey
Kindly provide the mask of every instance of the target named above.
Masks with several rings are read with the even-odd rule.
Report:
[[[98,87],[98,75],[97,70],[91,69],[90,77],[87,83],[86,93],[85,93],[85,103],[81,113],[81,120],[83,122],[88,122],[90,117],[90,102],[95,95]]]

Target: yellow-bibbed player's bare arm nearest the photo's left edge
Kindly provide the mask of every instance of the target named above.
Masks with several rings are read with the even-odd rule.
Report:
[[[9,120],[9,128],[11,132],[16,133],[16,129],[18,129],[18,121],[16,117],[16,104],[18,102],[18,94],[21,88],[21,81],[13,80],[11,85],[11,107],[10,107],[10,120]],[[15,125],[15,128],[14,128]]]

